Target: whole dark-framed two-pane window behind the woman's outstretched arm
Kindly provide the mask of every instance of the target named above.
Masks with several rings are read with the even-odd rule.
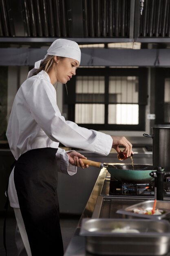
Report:
[[[68,120],[96,130],[145,130],[144,68],[79,68],[67,85]]]

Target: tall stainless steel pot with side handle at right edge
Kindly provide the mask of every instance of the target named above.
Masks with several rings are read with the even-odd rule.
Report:
[[[153,139],[153,166],[162,166],[165,171],[170,171],[170,127],[152,127],[152,130],[152,135],[143,135]]]

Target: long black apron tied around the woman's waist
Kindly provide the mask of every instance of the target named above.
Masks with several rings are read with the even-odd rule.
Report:
[[[57,198],[57,148],[38,148],[21,155],[14,183],[32,256],[62,256]]]

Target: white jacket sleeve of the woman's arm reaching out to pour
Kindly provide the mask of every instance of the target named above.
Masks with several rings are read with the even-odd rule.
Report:
[[[101,155],[110,153],[113,143],[110,135],[64,119],[57,107],[55,88],[46,79],[35,79],[25,99],[31,115],[51,140]]]

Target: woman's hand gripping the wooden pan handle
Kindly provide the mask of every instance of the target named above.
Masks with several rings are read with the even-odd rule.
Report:
[[[85,157],[84,155],[81,155],[80,153],[78,153],[76,151],[67,152],[67,155],[68,155],[70,164],[77,166],[77,167],[82,167],[83,169],[88,168],[88,164],[84,165],[84,163],[80,159],[80,158],[87,159],[87,157]]]

